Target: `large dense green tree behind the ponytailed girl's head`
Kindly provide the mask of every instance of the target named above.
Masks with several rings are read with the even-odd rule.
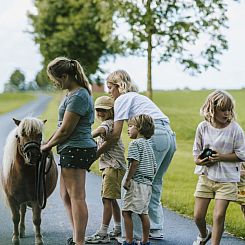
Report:
[[[44,67],[53,58],[66,56],[77,59],[90,75],[100,70],[103,58],[117,52],[119,45],[111,33],[110,1],[35,0],[34,3],[37,14],[28,16]]]

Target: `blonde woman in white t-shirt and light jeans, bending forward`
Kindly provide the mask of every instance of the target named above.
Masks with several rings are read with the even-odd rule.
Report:
[[[176,150],[175,134],[170,128],[168,117],[149,98],[136,92],[137,89],[126,71],[118,70],[111,73],[107,78],[107,86],[115,99],[114,129],[112,137],[97,151],[98,156],[119,140],[124,121],[140,114],[149,115],[154,119],[155,132],[150,141],[156,157],[157,172],[149,204],[150,237],[161,239],[163,238],[162,179]],[[140,238],[140,222],[134,227],[136,228],[134,237]]]

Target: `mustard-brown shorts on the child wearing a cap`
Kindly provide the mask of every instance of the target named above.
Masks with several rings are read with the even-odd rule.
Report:
[[[102,171],[101,196],[108,199],[121,199],[121,184],[124,169],[105,168]]]

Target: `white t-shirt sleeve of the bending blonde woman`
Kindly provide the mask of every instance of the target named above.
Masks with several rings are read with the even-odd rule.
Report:
[[[131,100],[127,94],[119,96],[114,103],[114,122],[129,119]]]

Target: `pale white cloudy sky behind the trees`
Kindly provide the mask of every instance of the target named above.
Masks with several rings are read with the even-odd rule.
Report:
[[[20,69],[27,81],[32,81],[41,69],[42,56],[34,43],[27,19],[27,11],[35,12],[32,0],[0,0],[0,92],[11,73]],[[190,76],[174,62],[153,63],[153,89],[240,89],[245,88],[245,1],[229,3],[229,29],[225,31],[229,43],[228,51],[220,58],[220,70],[209,69]],[[126,70],[140,91],[146,90],[146,58],[118,57],[103,65],[109,74],[117,69]]]

